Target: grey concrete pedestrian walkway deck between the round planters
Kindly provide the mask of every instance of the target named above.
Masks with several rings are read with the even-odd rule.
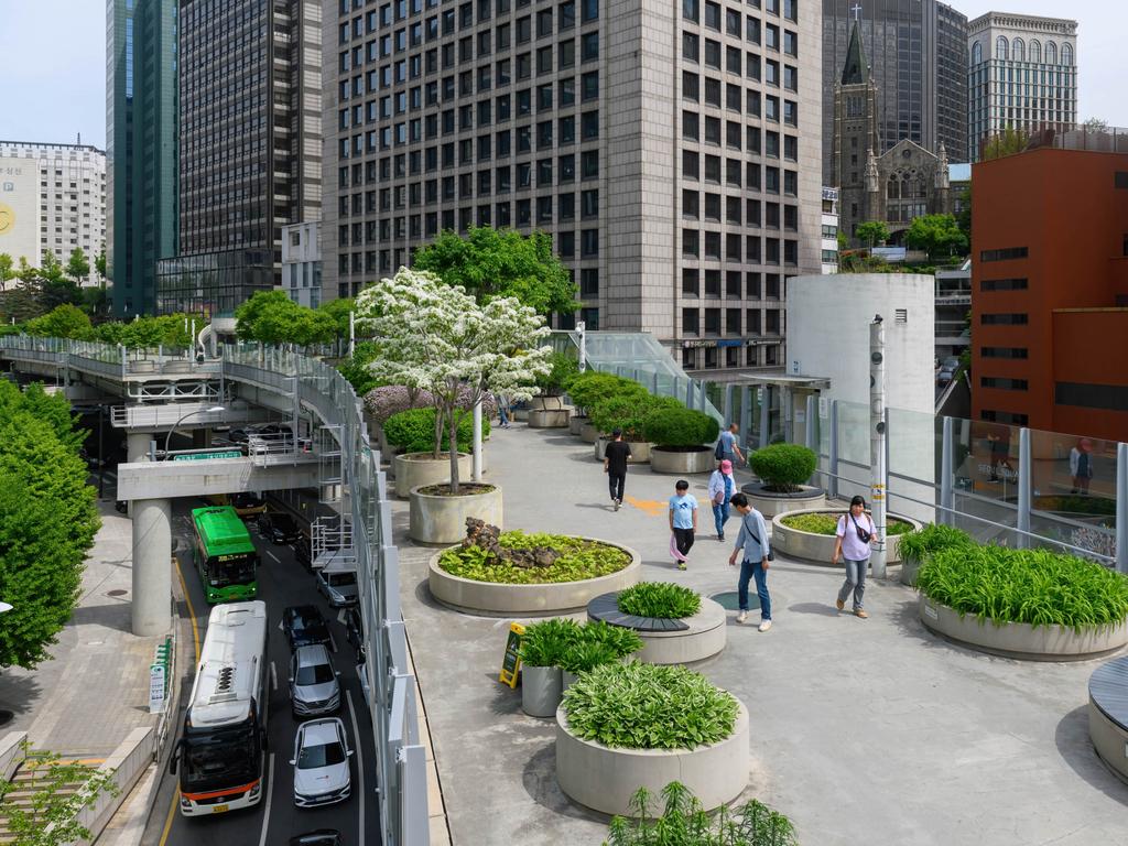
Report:
[[[729,543],[713,534],[705,486],[687,572],[668,557],[666,501],[673,476],[633,466],[613,512],[593,448],[566,430],[494,430],[486,481],[504,492],[504,528],[582,534],[634,547],[643,578],[705,594],[735,590]],[[556,786],[555,728],[527,717],[520,690],[497,682],[509,619],[437,605],[428,559],[393,505],[403,613],[443,801],[456,846],[600,844],[606,818]],[[896,570],[891,573],[896,578]],[[917,620],[916,594],[869,581],[862,620],[834,607],[840,571],[779,558],[769,573],[774,623],[756,631],[729,615],[724,652],[696,669],[751,716],[743,799],[786,813],[804,846],[1094,846],[1128,831],[1128,785],[1089,742],[1086,685],[1095,661],[993,658],[937,640]]]

